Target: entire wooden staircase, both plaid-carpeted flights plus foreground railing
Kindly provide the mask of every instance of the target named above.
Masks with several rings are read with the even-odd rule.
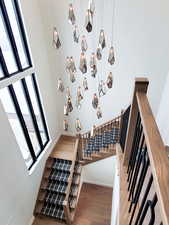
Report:
[[[115,225],[169,225],[169,147],[153,117],[147,87],[146,79],[136,79],[132,104],[119,117],[85,134],[60,137],[46,161],[35,216],[72,224],[83,165],[116,154],[120,200]]]

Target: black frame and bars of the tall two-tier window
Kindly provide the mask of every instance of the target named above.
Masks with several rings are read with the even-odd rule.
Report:
[[[28,61],[29,66],[27,68],[24,68],[24,69],[22,67],[20,56],[18,54],[18,49],[17,49],[15,37],[13,35],[13,31],[12,31],[12,28],[11,28],[9,16],[8,16],[7,9],[6,9],[6,6],[5,6],[5,2],[4,2],[4,0],[1,0],[0,1],[0,9],[2,11],[2,16],[3,16],[4,22],[5,22],[7,34],[8,34],[10,43],[11,43],[11,47],[12,47],[12,51],[13,51],[13,55],[14,55],[14,59],[16,61],[18,71],[15,72],[15,73],[11,73],[11,74],[9,73],[8,67],[6,65],[6,62],[5,62],[5,59],[4,59],[4,56],[3,56],[3,52],[2,52],[2,49],[1,49],[1,46],[0,46],[0,64],[1,64],[1,67],[2,67],[3,75],[4,75],[4,77],[0,78],[0,82],[3,81],[4,79],[7,79],[7,78],[9,79],[10,77],[12,77],[14,75],[17,77],[20,73],[22,73],[24,71],[27,71],[27,74],[22,78],[18,78],[17,81],[21,81],[21,85],[22,85],[23,92],[24,92],[24,97],[27,101],[27,106],[29,108],[29,112],[30,112],[31,119],[32,119],[32,122],[33,122],[33,125],[34,125],[35,133],[36,133],[39,145],[40,145],[40,152],[38,153],[38,155],[35,154],[35,150],[33,148],[33,144],[31,142],[31,139],[30,139],[30,136],[29,136],[28,128],[26,126],[24,117],[23,117],[22,112],[21,112],[20,105],[18,103],[18,99],[17,99],[16,93],[15,93],[15,90],[13,88],[13,82],[11,84],[9,84],[7,87],[8,87],[11,99],[13,101],[18,119],[20,121],[22,130],[23,130],[23,134],[25,136],[25,139],[26,139],[26,142],[27,142],[27,145],[28,145],[31,157],[32,157],[33,163],[28,168],[28,170],[30,170],[32,168],[32,166],[35,164],[35,162],[37,161],[40,154],[45,149],[46,145],[49,143],[50,138],[49,138],[48,128],[47,128],[47,124],[46,124],[46,120],[45,120],[45,116],[44,116],[44,110],[43,110],[43,107],[42,107],[41,98],[40,98],[40,94],[39,94],[39,88],[38,88],[37,81],[36,81],[36,75],[35,75],[35,72],[33,72],[33,73],[32,73],[32,71],[30,72],[30,69],[33,68],[33,65],[32,65],[30,50],[29,50],[29,46],[28,46],[28,41],[27,41],[27,37],[26,37],[26,32],[25,32],[25,28],[24,28],[24,24],[23,24],[21,10],[20,10],[18,0],[13,0],[13,4],[15,6],[15,12],[17,14],[16,17],[18,18],[18,25],[19,25],[19,29],[21,31],[21,38],[23,40],[23,44],[24,44],[24,48],[25,48],[25,55],[27,57],[27,61]],[[29,89],[28,89],[26,79],[25,79],[28,75],[32,77],[33,89],[35,91],[36,100],[37,100],[37,104],[38,104],[39,112],[40,112],[40,117],[41,117],[42,124],[43,124],[43,127],[44,127],[44,132],[45,132],[45,136],[46,136],[46,142],[44,144],[43,144],[43,141],[42,141],[42,137],[40,135],[40,129],[38,127],[38,123],[37,123],[36,115],[35,115],[34,108],[33,108],[33,105],[32,105]]]

